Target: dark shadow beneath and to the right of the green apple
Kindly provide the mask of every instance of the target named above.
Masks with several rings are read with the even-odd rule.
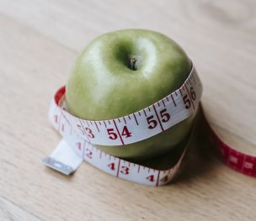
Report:
[[[209,133],[211,133],[210,128],[200,106],[194,128],[179,146],[166,155],[140,162],[140,164],[157,170],[168,170],[178,163],[184,149],[187,148],[179,171],[170,184],[189,182],[196,176],[210,173],[217,164],[218,153],[211,145]]]

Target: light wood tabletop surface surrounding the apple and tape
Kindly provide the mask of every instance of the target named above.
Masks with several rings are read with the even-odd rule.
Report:
[[[0,0],[0,220],[254,220],[256,179],[207,147],[158,188],[86,163],[73,176],[40,164],[60,140],[47,111],[75,57],[99,34],[126,28],[179,42],[200,73],[217,133],[256,154],[255,1]]]

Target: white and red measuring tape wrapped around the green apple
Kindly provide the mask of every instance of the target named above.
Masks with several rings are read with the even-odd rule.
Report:
[[[175,164],[167,170],[156,170],[108,155],[93,145],[116,148],[116,145],[132,144],[162,133],[195,114],[200,107],[201,94],[202,84],[193,66],[184,84],[157,103],[122,118],[88,121],[67,112],[65,87],[61,87],[51,101],[49,118],[63,139],[42,162],[56,171],[69,175],[85,160],[101,171],[125,180],[148,186],[165,185],[171,182],[179,171],[189,142],[184,145]],[[256,176],[255,157],[232,149],[211,129],[208,135],[218,150],[221,150],[222,159],[228,166]]]

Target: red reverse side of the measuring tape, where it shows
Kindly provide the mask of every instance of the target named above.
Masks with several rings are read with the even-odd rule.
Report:
[[[61,87],[55,94],[54,100],[58,105],[61,101],[61,97],[65,95],[66,87]],[[205,114],[204,118],[205,118]],[[227,145],[215,132],[211,129],[210,124],[205,119],[206,127],[209,131],[208,136],[211,141],[211,145],[219,151],[221,160],[230,168],[235,171],[239,171],[248,176],[256,176],[256,157],[253,155],[244,154],[241,151],[235,150],[231,146]]]

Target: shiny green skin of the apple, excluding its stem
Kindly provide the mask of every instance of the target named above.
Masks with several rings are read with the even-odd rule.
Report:
[[[131,69],[131,55],[139,60]],[[178,89],[191,62],[167,36],[145,29],[124,29],[93,39],[78,56],[68,77],[67,109],[88,120],[119,118],[147,108]],[[97,145],[110,155],[146,160],[163,155],[189,134],[194,116],[131,145]]]

